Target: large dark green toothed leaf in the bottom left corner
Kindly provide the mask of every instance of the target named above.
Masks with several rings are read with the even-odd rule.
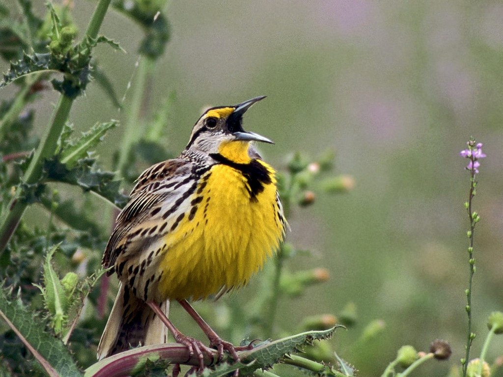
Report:
[[[20,300],[12,299],[3,286],[0,287],[0,316],[10,322],[10,325],[56,370],[60,377],[82,375],[64,344],[50,335],[45,325],[34,313],[27,310]]]

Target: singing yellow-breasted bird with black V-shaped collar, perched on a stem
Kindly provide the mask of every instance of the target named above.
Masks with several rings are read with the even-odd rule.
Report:
[[[253,141],[271,140],[242,128],[242,115],[265,97],[207,110],[180,157],[145,170],[117,217],[103,265],[120,280],[98,346],[103,358],[139,344],[175,340],[197,354],[214,352],[180,333],[164,315],[177,300],[216,347],[238,359],[188,299],[205,299],[246,284],[283,241],[286,220],[275,170]]]

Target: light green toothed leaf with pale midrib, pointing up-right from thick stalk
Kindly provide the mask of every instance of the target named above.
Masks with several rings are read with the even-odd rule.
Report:
[[[76,141],[69,142],[65,136],[60,143],[59,160],[68,168],[72,168],[81,158],[87,157],[88,153],[96,147],[108,130],[117,126],[117,121],[96,123],[89,131],[82,133]]]

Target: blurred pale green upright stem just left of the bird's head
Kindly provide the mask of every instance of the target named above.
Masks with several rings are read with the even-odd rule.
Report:
[[[119,162],[117,164],[119,178],[124,178],[126,176],[127,165],[130,163],[129,156],[131,154],[131,148],[133,144],[141,138],[144,130],[144,119],[147,114],[146,95],[148,90],[146,87],[153,74],[154,66],[155,62],[146,56],[142,56],[138,63],[138,72],[133,85],[133,96],[131,105],[128,107],[129,113],[124,137],[122,139]]]

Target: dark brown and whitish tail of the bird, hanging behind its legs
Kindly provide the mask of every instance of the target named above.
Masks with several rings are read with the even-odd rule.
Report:
[[[170,302],[162,303],[160,309],[167,316]],[[127,351],[140,344],[161,344],[166,343],[166,340],[167,329],[160,318],[121,283],[98,345],[98,359]]]

